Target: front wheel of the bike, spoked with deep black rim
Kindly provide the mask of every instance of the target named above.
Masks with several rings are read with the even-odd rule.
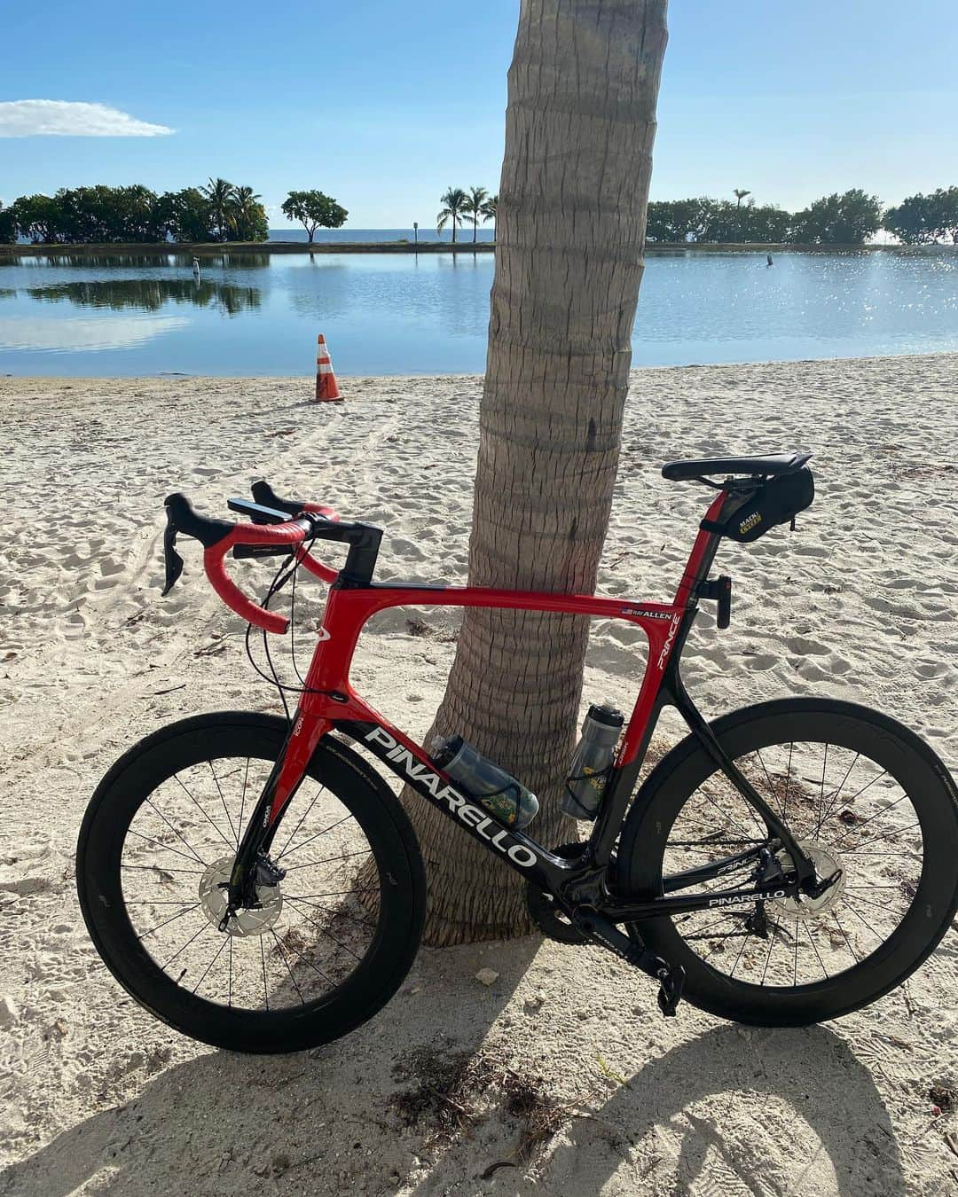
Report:
[[[101,783],[77,850],[80,906],[114,977],[177,1031],[236,1051],[298,1051],[365,1022],[406,976],[425,912],[405,812],[327,737],[273,841],[285,877],[219,929],[285,731],[228,712],[148,736]]]

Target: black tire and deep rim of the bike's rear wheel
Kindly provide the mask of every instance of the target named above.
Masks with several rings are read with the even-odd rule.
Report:
[[[917,888],[901,923],[879,949],[851,968],[793,991],[766,989],[764,976],[762,985],[729,978],[690,947],[672,917],[631,924],[630,934],[685,968],[685,997],[692,1004],[732,1021],[807,1026],[850,1014],[895,989],[930,955],[958,910],[958,791],[945,765],[897,721],[829,698],[763,703],[723,716],[711,729],[733,759],[756,751],[760,757],[766,746],[804,742],[805,737],[824,742],[826,752],[829,743],[836,743],[849,753],[867,753],[867,759],[884,766],[902,786],[917,814],[923,852]],[[716,772],[716,765],[691,735],[660,761],[641,788],[623,828],[620,892],[643,901],[662,895],[669,832],[690,798]],[[796,958],[798,940],[796,922]]]

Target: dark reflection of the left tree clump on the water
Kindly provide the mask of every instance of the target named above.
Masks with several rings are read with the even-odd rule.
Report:
[[[237,286],[220,280],[193,279],[83,279],[53,282],[44,287],[26,287],[26,294],[41,303],[66,300],[78,308],[109,308],[113,311],[134,309],[159,311],[166,303],[217,306],[230,316],[253,311],[262,303],[259,287]],[[16,293],[16,292],[14,292]]]

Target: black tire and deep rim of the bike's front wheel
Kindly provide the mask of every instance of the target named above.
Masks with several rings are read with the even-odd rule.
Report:
[[[381,881],[375,932],[354,971],[321,999],[304,1002],[302,1008],[269,1009],[267,995],[266,1010],[241,1010],[181,988],[145,949],[125,904],[121,876],[125,839],[138,810],[182,768],[230,757],[268,766],[277,759],[285,735],[283,719],[251,712],[201,715],[162,728],[131,748],[103,778],[86,810],[77,847],[80,907],[90,936],[116,980],[140,1005],[176,1031],[241,1052],[301,1051],[338,1039],[366,1022],[406,977],[425,917],[425,874],[408,816],[365,761],[340,740],[326,736],[307,776],[334,796],[362,827]],[[230,943],[230,996],[232,952]],[[286,962],[285,950],[283,960]],[[266,989],[265,970],[263,964]]]

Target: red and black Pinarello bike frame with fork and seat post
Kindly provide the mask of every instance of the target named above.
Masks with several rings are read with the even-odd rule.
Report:
[[[713,525],[732,492],[722,490],[703,521]],[[601,598],[483,587],[418,585],[414,583],[371,583],[348,587],[333,582],[323,614],[320,640],[314,650],[305,687],[292,721],[283,753],[266,783],[243,837],[230,882],[231,898],[243,892],[260,852],[268,851],[283,812],[298,789],[320,740],[331,731],[352,736],[405,783],[455,820],[467,834],[499,856],[535,887],[554,894],[571,907],[587,905],[612,922],[635,922],[679,911],[710,906],[747,904],[769,898],[790,897],[802,883],[814,880],[814,867],[792,838],[775,812],[735,767],[711,734],[705,719],[685,691],[679,660],[696,618],[701,589],[711,569],[718,535],[699,528],[675,596],[671,603]],[[316,572],[314,570],[314,572]],[[323,573],[326,573],[323,567]],[[333,576],[328,571],[329,577]],[[510,830],[478,801],[461,794],[401,730],[393,727],[357,694],[350,682],[350,667],[359,634],[366,621],[390,607],[479,607],[538,610],[570,615],[622,619],[638,625],[648,639],[645,672],[618,757],[611,770],[599,818],[582,853],[575,858],[557,856],[520,831]],[[622,830],[645,751],[665,705],[675,706],[704,748],[745,800],[759,814],[769,831],[792,857],[795,873],[790,881],[758,883],[746,889],[720,893],[661,897],[653,901],[620,900],[610,886],[610,863]],[[765,845],[668,879],[666,888],[678,891],[718,877],[741,864],[757,863]]]

